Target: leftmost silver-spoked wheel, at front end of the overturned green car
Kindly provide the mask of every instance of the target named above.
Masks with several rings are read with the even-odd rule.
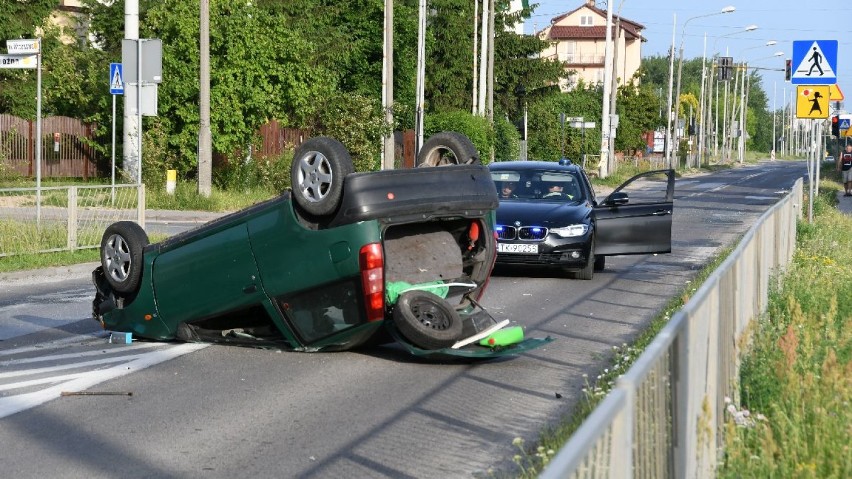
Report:
[[[142,251],[148,235],[132,221],[119,221],[107,227],[101,238],[101,266],[113,291],[135,293],[142,281]]]

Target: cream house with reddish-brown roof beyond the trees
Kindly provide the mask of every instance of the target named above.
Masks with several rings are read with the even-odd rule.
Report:
[[[615,76],[618,84],[623,85],[639,69],[645,27],[615,14],[612,23],[616,45],[613,54]],[[596,7],[594,0],[586,0],[579,8],[554,17],[550,25],[536,35],[551,42],[541,57],[558,60],[571,72],[560,84],[563,91],[574,88],[581,79],[586,84],[603,82],[606,10]]]

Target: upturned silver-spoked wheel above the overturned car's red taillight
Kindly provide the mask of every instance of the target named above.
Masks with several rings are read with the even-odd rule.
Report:
[[[342,143],[325,136],[307,140],[296,149],[290,166],[296,203],[311,215],[331,215],[343,196],[343,178],[353,171],[352,157]]]

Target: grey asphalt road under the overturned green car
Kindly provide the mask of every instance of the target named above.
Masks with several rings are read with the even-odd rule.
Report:
[[[7,281],[0,416],[26,394],[69,390],[61,377],[73,372],[94,374],[90,391],[132,396],[59,397],[0,419],[0,466],[14,477],[448,478],[511,469],[512,440],[534,441],[570,410],[583,375],[598,374],[613,346],[635,337],[805,174],[802,162],[767,162],[679,180],[672,254],[608,258],[592,281],[498,270],[485,307],[555,341],[490,362],[428,363],[393,346],[108,344],[86,319],[85,274]],[[95,359],[105,362],[80,365]],[[32,382],[13,386],[21,381]]]

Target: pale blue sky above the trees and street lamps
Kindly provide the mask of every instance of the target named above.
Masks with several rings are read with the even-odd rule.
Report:
[[[584,0],[530,0],[538,4],[524,27],[526,33],[541,30],[553,17],[578,8]],[[597,6],[606,9],[606,1]],[[784,90],[789,101],[793,86],[784,81],[784,62],[792,58],[793,41],[837,40],[837,85],[846,96],[845,104],[852,105],[852,2],[841,0],[612,0],[614,13],[645,26],[642,35],[642,56],[666,56],[672,46],[683,43],[683,57],[701,58],[704,36],[707,35],[707,57],[715,51],[746,60],[749,65],[778,68],[761,70],[763,89],[769,98],[769,108],[775,102],[781,108]],[[702,16],[721,12],[727,6],[731,13]],[[676,17],[675,17],[676,16]],[[700,18],[693,18],[699,17]],[[686,26],[684,27],[684,23]],[[757,29],[744,32],[746,27]],[[724,37],[723,37],[724,36]],[[770,41],[777,42],[767,46]],[[783,56],[774,57],[777,52]],[[795,68],[796,65],[793,65]]]

